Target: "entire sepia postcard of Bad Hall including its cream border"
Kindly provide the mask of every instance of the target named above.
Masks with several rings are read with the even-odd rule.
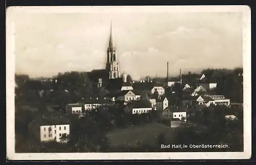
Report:
[[[248,6],[8,7],[7,158],[249,159]]]

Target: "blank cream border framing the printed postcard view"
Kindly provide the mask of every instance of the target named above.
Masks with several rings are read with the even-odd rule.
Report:
[[[152,152],[152,153],[15,153],[14,132],[14,73],[15,56],[14,41],[15,29],[12,18],[19,10],[28,12],[45,12],[50,8],[51,12],[84,11],[84,7],[8,7],[6,26],[6,131],[7,131],[7,158],[10,160],[114,160],[114,159],[249,159],[251,157],[251,10],[249,6],[130,6],[122,11],[158,12],[242,12],[243,13],[243,69],[244,69],[244,152]],[[88,7],[86,7],[88,8]],[[102,12],[108,12],[108,8],[89,7],[90,10],[101,8]],[[120,7],[112,7],[119,10]],[[36,10],[34,10],[36,9]],[[171,9],[171,10],[170,10]],[[87,11],[90,11],[87,10]]]

